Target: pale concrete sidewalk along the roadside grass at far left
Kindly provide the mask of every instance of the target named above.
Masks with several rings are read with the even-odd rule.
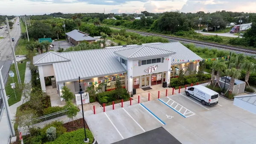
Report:
[[[28,64],[29,64],[29,62],[26,63],[24,83],[30,83],[30,81],[31,81],[31,73],[30,73]],[[21,100],[19,102],[17,102],[16,104],[13,104],[12,106],[9,107],[12,120],[15,118],[17,107],[19,107],[21,104],[23,104],[23,99],[24,99],[24,97],[22,96]],[[0,121],[0,144],[7,144],[9,141],[10,135],[11,134],[10,134],[9,126],[8,126],[8,121],[6,118],[6,110],[4,110],[3,117]],[[16,135],[16,136],[18,136],[18,135]]]

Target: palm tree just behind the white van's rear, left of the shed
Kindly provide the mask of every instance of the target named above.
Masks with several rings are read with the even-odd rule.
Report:
[[[220,77],[222,75],[224,75],[223,71],[226,69],[226,64],[224,62],[221,62],[221,61],[214,61],[212,63],[212,67],[214,67],[214,69],[217,71],[215,85],[218,84],[220,86],[220,84],[219,84]],[[213,87],[215,87],[215,85]],[[221,88],[221,86],[220,86],[220,88]]]

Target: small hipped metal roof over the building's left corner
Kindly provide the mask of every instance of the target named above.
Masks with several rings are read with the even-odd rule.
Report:
[[[58,55],[56,52],[43,53],[41,55],[35,56],[33,59],[33,63],[35,66],[47,64],[47,63],[64,62],[64,61],[70,61],[70,59],[67,59],[61,55]]]

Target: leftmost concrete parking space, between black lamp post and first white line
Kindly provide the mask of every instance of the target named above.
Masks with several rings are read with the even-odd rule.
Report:
[[[104,112],[97,115],[85,115],[85,120],[99,144],[111,144],[115,141],[122,140],[122,137],[113,127]]]

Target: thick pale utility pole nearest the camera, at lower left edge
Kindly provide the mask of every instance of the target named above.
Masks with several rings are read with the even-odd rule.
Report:
[[[9,29],[9,24],[8,24],[8,29]],[[6,118],[7,118],[7,121],[8,121],[8,125],[9,125],[11,135],[12,135],[12,137],[14,137],[15,136],[15,131],[14,131],[14,127],[13,127],[12,121],[11,121],[12,118],[11,118],[11,114],[10,114],[10,109],[9,109],[9,104],[8,104],[8,101],[7,101],[7,97],[6,97],[5,87],[4,87],[4,84],[3,84],[3,76],[2,76],[1,70],[0,70],[0,85],[1,85],[0,86],[1,94],[2,94],[2,98],[3,98],[3,106],[6,109]]]

